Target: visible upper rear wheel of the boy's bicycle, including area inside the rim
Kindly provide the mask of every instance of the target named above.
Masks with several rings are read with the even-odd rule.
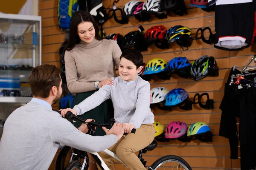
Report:
[[[167,155],[157,159],[148,170],[192,170],[190,165],[179,156]]]

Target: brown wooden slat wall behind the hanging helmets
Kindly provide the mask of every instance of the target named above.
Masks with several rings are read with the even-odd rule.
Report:
[[[119,0],[117,7],[123,8],[129,0]],[[186,6],[189,8],[190,0],[185,0]],[[112,7],[113,0],[103,0],[103,4],[107,11]],[[65,33],[58,28],[57,19],[58,0],[39,0],[38,15],[42,16],[42,63],[53,64],[60,67],[58,50],[64,42]],[[117,13],[118,14],[118,13]],[[119,14],[120,15],[120,14]],[[164,25],[167,29],[175,25],[183,25],[192,29],[193,36],[198,28],[210,27],[214,28],[214,12],[205,12],[200,8],[189,8],[188,14],[175,16],[169,14],[166,19],[151,18],[150,21],[140,23],[134,17],[129,18],[129,23],[120,25],[113,19],[108,20],[104,24],[106,34],[119,33],[122,35],[130,31],[137,31],[137,26],[142,25],[145,31],[151,26]],[[209,35],[209,34],[208,34]],[[207,37],[207,34],[206,36]],[[198,105],[193,105],[192,111],[183,111],[175,108],[173,111],[161,111],[159,109],[152,110],[155,120],[168,125],[171,121],[180,120],[191,125],[194,122],[206,122],[213,133],[212,143],[203,143],[198,140],[189,143],[178,142],[173,140],[165,143],[158,143],[158,147],[145,154],[144,159],[148,161],[148,165],[152,164],[161,156],[173,154],[181,156],[193,168],[193,170],[223,170],[223,169],[239,169],[240,159],[231,160],[230,147],[228,139],[218,136],[219,123],[221,118],[221,110],[219,109],[222,97],[224,95],[224,83],[227,82],[229,69],[233,65],[242,67],[256,53],[256,45],[246,48],[243,51],[223,51],[208,45],[201,40],[194,40],[189,50],[182,51],[177,44],[170,44],[169,49],[159,49],[154,45],[143,52],[144,62],[148,62],[153,58],[162,58],[166,62],[173,57],[187,57],[189,61],[193,61],[203,55],[212,55],[215,57],[219,70],[218,77],[207,77],[201,81],[195,82],[191,79],[183,79],[172,76],[170,80],[152,80],[151,89],[157,86],[163,86],[172,90],[174,88],[184,88],[192,99],[195,93],[208,92],[211,99],[215,101],[213,110],[201,109]],[[53,108],[57,109],[55,105]],[[239,153],[240,156],[240,153]],[[56,157],[56,156],[55,156]],[[53,170],[55,159],[49,169]],[[116,170],[126,169],[122,164],[115,164]]]

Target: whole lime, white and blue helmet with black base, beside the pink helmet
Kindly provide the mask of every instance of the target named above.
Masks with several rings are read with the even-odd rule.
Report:
[[[187,136],[202,142],[212,142],[212,132],[205,122],[195,122],[189,126]]]

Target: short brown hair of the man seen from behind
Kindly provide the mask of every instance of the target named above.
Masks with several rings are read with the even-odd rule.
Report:
[[[52,86],[60,88],[61,70],[55,65],[39,65],[31,71],[29,76],[29,84],[32,94],[36,97],[49,97]]]

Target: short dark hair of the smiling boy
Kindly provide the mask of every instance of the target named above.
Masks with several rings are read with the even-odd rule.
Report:
[[[136,65],[137,69],[140,66],[143,65],[143,55],[140,53],[140,51],[138,51],[136,49],[127,49],[127,50],[125,50],[121,54],[120,60],[121,60],[122,57],[124,57],[125,59],[128,59],[131,62],[133,62],[134,65]]]

